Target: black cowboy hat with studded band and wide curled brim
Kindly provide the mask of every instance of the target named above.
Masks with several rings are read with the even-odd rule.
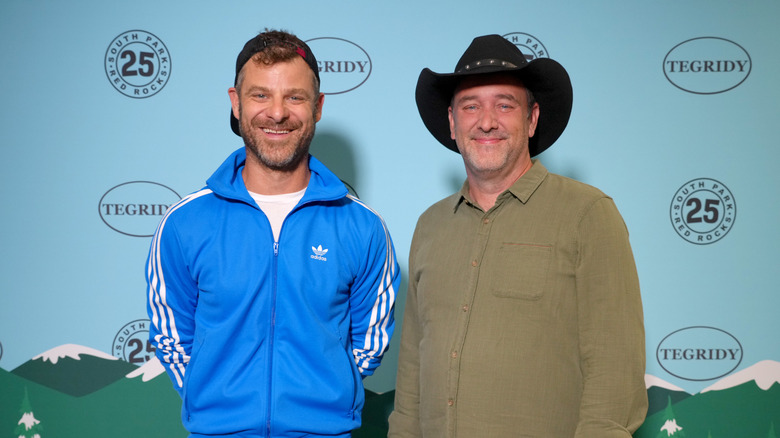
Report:
[[[536,133],[528,140],[531,156],[550,147],[569,123],[572,105],[571,81],[566,70],[549,58],[528,62],[512,42],[500,35],[474,38],[455,66],[455,73],[423,69],[417,80],[415,99],[425,127],[436,140],[458,152],[450,137],[447,108],[458,82],[466,76],[510,72],[517,75],[539,103]]]

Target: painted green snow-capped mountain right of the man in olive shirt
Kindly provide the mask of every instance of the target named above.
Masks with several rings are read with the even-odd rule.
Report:
[[[780,362],[765,360],[686,396],[660,379],[646,379],[648,417],[635,438],[777,438],[780,426]],[[662,402],[663,395],[667,396]],[[663,406],[661,406],[663,405]],[[651,411],[654,411],[650,413]]]

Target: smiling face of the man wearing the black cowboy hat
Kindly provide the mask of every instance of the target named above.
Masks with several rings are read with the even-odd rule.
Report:
[[[514,181],[531,165],[528,139],[539,106],[528,107],[526,89],[504,74],[465,78],[449,108],[450,135],[470,178]]]

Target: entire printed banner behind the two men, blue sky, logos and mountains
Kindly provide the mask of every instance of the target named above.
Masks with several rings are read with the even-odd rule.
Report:
[[[167,208],[242,146],[227,89],[265,28],[307,41],[326,94],[312,153],[393,235],[456,191],[414,103],[500,34],[574,87],[539,158],[611,195],[647,333],[635,436],[780,434],[780,2],[5,0],[0,4],[0,436],[186,436],[147,342],[144,268]],[[383,436],[399,330],[366,379]],[[37,434],[37,435],[36,435]]]

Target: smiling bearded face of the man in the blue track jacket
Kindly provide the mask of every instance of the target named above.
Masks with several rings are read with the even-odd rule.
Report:
[[[270,170],[293,171],[305,165],[324,96],[314,73],[301,58],[266,65],[250,60],[230,88],[233,115],[250,160]]]

